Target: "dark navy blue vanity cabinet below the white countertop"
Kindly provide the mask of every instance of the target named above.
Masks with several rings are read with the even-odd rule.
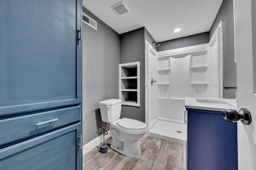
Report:
[[[187,110],[187,169],[237,170],[237,123],[222,111]]]

